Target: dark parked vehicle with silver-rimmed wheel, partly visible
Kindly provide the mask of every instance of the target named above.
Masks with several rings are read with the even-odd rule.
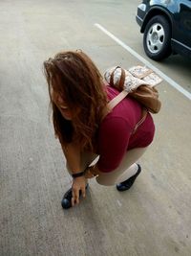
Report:
[[[191,0],[144,0],[136,19],[149,58],[191,57]]]

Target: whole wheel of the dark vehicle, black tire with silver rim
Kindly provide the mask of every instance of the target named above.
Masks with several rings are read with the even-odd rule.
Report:
[[[143,47],[146,55],[154,60],[161,60],[171,55],[171,26],[164,16],[154,16],[147,23]]]

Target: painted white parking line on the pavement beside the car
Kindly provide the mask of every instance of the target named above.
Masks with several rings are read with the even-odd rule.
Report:
[[[103,28],[98,23],[95,24],[95,26],[101,30],[106,35],[110,36],[113,40],[117,42],[120,46],[122,46],[125,50],[127,50],[130,54],[132,54],[134,57],[138,58],[141,62],[143,62],[147,67],[151,68],[153,71],[155,71],[163,80],[167,81],[170,85],[172,85],[174,88],[176,88],[180,93],[182,93],[185,97],[187,97],[189,100],[191,100],[191,93],[183,89],[179,83],[176,81],[173,81],[171,78],[166,76],[163,72],[161,72],[157,67],[155,67],[153,64],[151,64],[148,60],[145,58],[142,58],[140,55],[138,55],[137,52],[135,52],[131,47],[123,43],[121,40],[117,38],[117,36],[113,35],[109,31],[107,31],[105,28]]]

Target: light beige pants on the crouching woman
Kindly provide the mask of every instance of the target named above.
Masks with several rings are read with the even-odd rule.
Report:
[[[96,177],[97,183],[104,186],[112,186],[135,175],[138,171],[138,166],[135,163],[147,148],[148,147],[127,151],[117,169],[110,173],[101,173],[101,175],[98,175]],[[88,166],[96,164],[98,157],[96,153],[83,152],[81,155],[81,170],[85,170]],[[67,169],[71,174],[68,165]]]

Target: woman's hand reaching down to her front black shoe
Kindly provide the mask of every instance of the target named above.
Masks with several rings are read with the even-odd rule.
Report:
[[[82,197],[86,197],[86,178],[85,176],[75,177],[73,181],[73,198],[72,206],[79,203],[79,192],[81,190]]]

